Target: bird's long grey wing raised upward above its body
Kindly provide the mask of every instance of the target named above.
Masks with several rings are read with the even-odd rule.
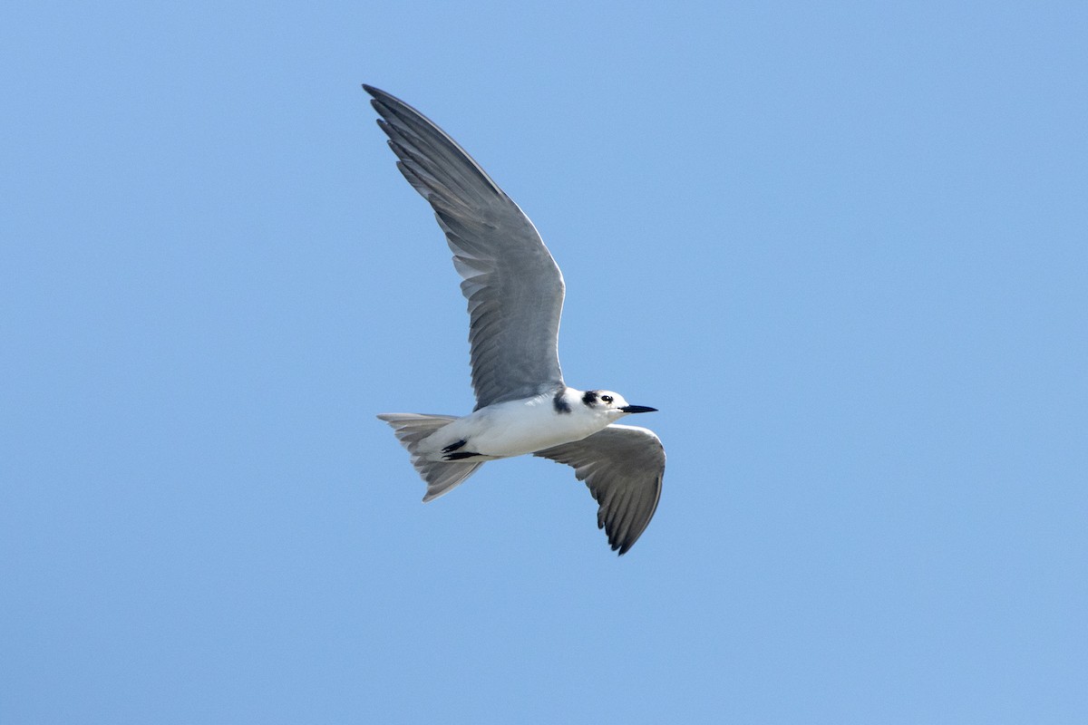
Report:
[[[562,274],[529,217],[422,113],[363,86],[397,167],[434,208],[468,300],[477,409],[562,386]]]

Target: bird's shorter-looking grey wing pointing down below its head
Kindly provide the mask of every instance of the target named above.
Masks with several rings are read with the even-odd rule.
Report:
[[[588,438],[533,453],[566,463],[596,499],[597,527],[613,551],[627,553],[650,524],[662,497],[665,448],[652,430],[611,424]]]

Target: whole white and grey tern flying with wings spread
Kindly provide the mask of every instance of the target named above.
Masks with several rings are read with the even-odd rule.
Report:
[[[597,526],[623,554],[662,495],[665,449],[646,428],[618,425],[631,405],[609,390],[567,387],[559,368],[562,274],[533,223],[426,116],[363,85],[397,168],[434,209],[454,252],[470,316],[477,405],[463,417],[384,413],[426,482],[424,501],[486,461],[531,453],[565,463],[599,508]]]

